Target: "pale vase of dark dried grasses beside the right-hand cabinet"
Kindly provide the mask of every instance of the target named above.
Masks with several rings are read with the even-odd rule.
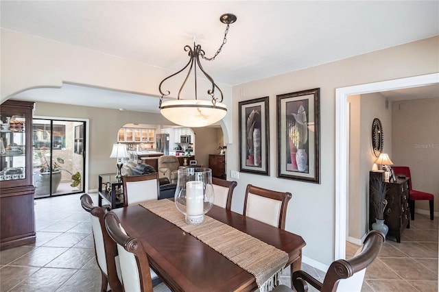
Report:
[[[388,188],[379,178],[372,178],[370,182],[370,202],[372,207],[375,209],[375,223],[372,223],[372,230],[379,230],[387,235],[389,228],[384,223],[384,212],[385,207],[388,202],[386,195],[388,193]],[[390,212],[390,208],[387,209]]]

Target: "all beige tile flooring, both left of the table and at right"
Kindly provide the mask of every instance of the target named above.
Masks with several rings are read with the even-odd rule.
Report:
[[[35,201],[36,243],[0,252],[0,292],[99,291],[101,273],[80,195]],[[97,195],[91,197],[96,204]],[[386,241],[366,270],[361,291],[438,291],[438,221],[416,214],[401,243]],[[356,249],[349,244],[346,253]],[[323,271],[305,263],[302,269],[320,281],[324,278]],[[289,284],[289,269],[281,280]]]

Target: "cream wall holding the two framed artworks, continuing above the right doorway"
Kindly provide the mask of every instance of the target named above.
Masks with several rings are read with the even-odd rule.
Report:
[[[291,192],[293,197],[289,202],[285,228],[300,234],[307,242],[304,248],[305,259],[311,258],[329,265],[334,259],[335,250],[335,88],[438,72],[438,40],[429,38],[234,86],[235,112],[239,101],[263,96],[270,98],[271,175],[265,177],[239,173],[233,210],[241,212],[244,190],[250,183]],[[321,182],[311,184],[276,178],[276,95],[316,87],[320,88]],[[237,128],[238,117],[234,115],[233,129]],[[235,131],[233,140],[238,139],[238,132]],[[238,143],[228,145],[228,170],[239,169],[238,147]]]

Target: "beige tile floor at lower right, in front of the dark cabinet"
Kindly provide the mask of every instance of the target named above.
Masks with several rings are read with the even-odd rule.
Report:
[[[438,222],[415,214],[410,229],[401,234],[401,243],[385,241],[366,269],[361,291],[438,291]]]

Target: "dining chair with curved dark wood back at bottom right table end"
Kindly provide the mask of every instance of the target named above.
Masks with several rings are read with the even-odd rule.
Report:
[[[292,273],[294,289],[298,292],[308,291],[308,284],[311,284],[312,287],[322,292],[360,291],[359,289],[355,290],[352,286],[348,287],[348,285],[344,285],[346,282],[343,281],[349,280],[355,276],[356,273],[364,271],[364,269],[366,269],[366,267],[377,258],[384,241],[385,236],[382,232],[377,230],[370,231],[366,235],[366,239],[364,239],[364,245],[361,252],[348,260],[340,259],[331,263],[326,276],[324,276],[323,282],[313,278],[305,271],[294,271],[294,273]],[[292,291],[291,288],[285,285],[279,285],[272,290],[272,292]]]

